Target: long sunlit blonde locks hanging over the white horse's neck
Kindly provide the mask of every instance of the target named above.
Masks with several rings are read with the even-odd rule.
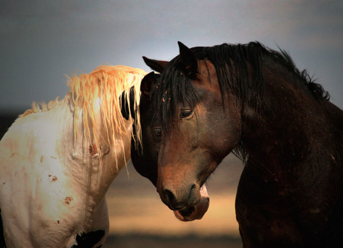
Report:
[[[98,126],[94,120],[94,105],[98,99],[101,99],[101,117],[107,131],[107,140],[114,139],[114,133],[123,131],[124,118],[120,111],[119,97],[125,90],[126,97],[129,99],[130,88],[135,87],[135,109],[139,103],[139,85],[141,79],[146,74],[141,69],[135,69],[128,66],[99,66],[93,72],[88,74],[74,75],[69,78],[68,85],[74,102],[74,123],[80,118],[78,109],[82,109],[83,124],[85,127],[84,135],[89,133],[89,123],[93,125],[93,134],[96,134]],[[99,100],[98,100],[99,101]],[[130,101],[127,100],[130,104]],[[129,108],[130,109],[130,108]],[[139,115],[137,113],[137,120]],[[139,121],[138,121],[139,123]],[[74,130],[77,137],[77,129]],[[89,136],[88,136],[89,137]],[[96,135],[94,135],[96,137]]]

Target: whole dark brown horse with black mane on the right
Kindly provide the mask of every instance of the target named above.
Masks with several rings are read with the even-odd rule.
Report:
[[[144,58],[161,74],[140,86],[162,201],[192,207],[233,152],[244,162],[235,209],[245,248],[341,247],[343,111],[329,93],[281,49],[178,44],[170,62]]]

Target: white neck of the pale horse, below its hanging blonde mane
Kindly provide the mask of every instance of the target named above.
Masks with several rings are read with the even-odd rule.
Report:
[[[100,101],[99,101],[100,102]],[[82,110],[80,118],[75,123],[78,135],[75,138],[74,110],[71,101],[65,99],[60,112],[60,119],[64,120],[61,124],[62,137],[59,149],[63,158],[63,166],[68,171],[70,181],[74,188],[79,191],[81,197],[86,203],[86,211],[92,212],[101,202],[109,186],[118,175],[120,170],[130,159],[130,141],[131,141],[131,123],[128,121],[125,127],[114,134],[115,140],[107,140],[107,132],[100,117],[100,106],[96,110],[95,122],[100,127],[96,137],[91,135],[88,138],[88,132],[84,128],[82,120]],[[65,121],[70,120],[70,121]],[[93,126],[91,123],[90,129]],[[91,132],[92,133],[92,132]],[[101,149],[101,158],[97,152],[96,144]]]

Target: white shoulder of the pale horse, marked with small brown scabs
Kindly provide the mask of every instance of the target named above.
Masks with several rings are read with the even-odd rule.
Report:
[[[30,114],[1,139],[0,207],[9,246],[59,246],[83,224],[84,207],[57,151],[60,127],[48,112]]]

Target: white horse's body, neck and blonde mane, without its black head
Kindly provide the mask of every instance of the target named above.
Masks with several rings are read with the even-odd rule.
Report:
[[[130,159],[133,119],[122,117],[119,98],[125,91],[129,99],[133,86],[136,110],[145,74],[106,65],[74,75],[62,100],[33,104],[11,125],[0,141],[0,209],[8,248],[104,243],[105,193]]]

